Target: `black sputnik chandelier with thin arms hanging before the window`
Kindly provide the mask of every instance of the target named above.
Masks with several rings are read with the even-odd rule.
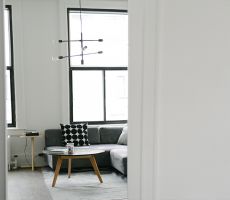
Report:
[[[65,58],[71,58],[80,56],[81,57],[81,64],[84,65],[84,56],[93,55],[93,54],[102,54],[103,51],[97,51],[97,52],[89,52],[85,53],[85,50],[88,48],[84,45],[84,42],[103,42],[103,39],[84,39],[83,37],[83,28],[82,28],[82,7],[81,7],[81,0],[79,0],[79,16],[80,16],[80,39],[79,40],[58,40],[59,43],[65,43],[67,42],[68,45],[70,42],[80,42],[81,45],[81,52],[77,55],[68,55],[68,56],[58,56],[58,59],[65,59]]]

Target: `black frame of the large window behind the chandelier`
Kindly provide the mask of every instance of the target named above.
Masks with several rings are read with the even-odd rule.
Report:
[[[67,28],[68,28],[68,55],[70,55],[70,27],[69,27],[69,13],[71,11],[80,11],[79,8],[67,8]],[[103,13],[127,13],[127,10],[117,10],[117,9],[90,9],[90,8],[82,8],[81,11],[91,11],[91,12],[103,12]],[[116,121],[107,121],[106,120],[106,80],[105,80],[105,72],[112,70],[128,70],[127,67],[71,67],[70,57],[68,59],[69,62],[69,105],[70,105],[70,123],[79,123],[73,121],[73,71],[102,71],[103,72],[103,95],[104,95],[104,121],[90,121],[89,124],[121,124],[127,123],[127,120],[116,120]]]

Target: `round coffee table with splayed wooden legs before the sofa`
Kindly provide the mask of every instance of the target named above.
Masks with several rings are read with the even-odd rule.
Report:
[[[82,148],[82,149],[77,148],[77,149],[75,149],[73,154],[68,154],[67,151],[58,151],[58,150],[55,151],[55,149],[54,150],[45,150],[44,151],[45,154],[56,155],[58,157],[55,172],[54,172],[52,187],[54,187],[56,184],[57,177],[59,175],[63,160],[68,160],[68,177],[70,178],[72,159],[89,159],[99,181],[101,183],[103,183],[100,171],[99,171],[98,166],[97,166],[97,161],[95,159],[96,154],[100,154],[103,152],[105,152],[105,151],[104,150],[91,149],[91,148]]]

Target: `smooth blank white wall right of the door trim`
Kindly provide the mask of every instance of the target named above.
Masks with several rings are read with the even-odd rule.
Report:
[[[159,8],[158,199],[230,199],[230,2]]]

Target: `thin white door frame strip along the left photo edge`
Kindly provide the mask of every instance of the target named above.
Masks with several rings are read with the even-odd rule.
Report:
[[[7,199],[5,119],[4,0],[0,0],[0,199]]]

